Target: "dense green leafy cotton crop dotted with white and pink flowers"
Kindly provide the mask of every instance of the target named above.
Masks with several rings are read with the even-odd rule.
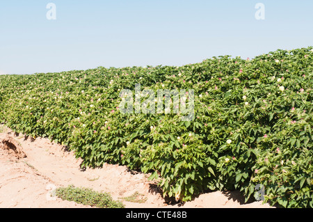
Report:
[[[182,113],[122,113],[120,92],[194,91]],[[313,207],[313,49],[253,59],[0,77],[0,120],[74,150],[82,166],[123,164],[159,178],[164,196],[240,189],[283,207]],[[143,102],[145,97],[141,97]],[[191,100],[186,93],[186,101]],[[264,187],[259,191],[258,187]]]

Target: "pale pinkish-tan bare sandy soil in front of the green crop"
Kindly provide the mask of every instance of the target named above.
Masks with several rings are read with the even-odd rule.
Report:
[[[74,202],[51,197],[57,187],[73,184],[75,187],[88,187],[95,191],[111,193],[114,200],[143,194],[145,203],[122,200],[125,207],[270,207],[262,202],[243,204],[239,191],[223,193],[214,191],[203,193],[184,205],[167,205],[155,182],[149,175],[131,172],[125,166],[105,164],[103,168],[86,168],[81,171],[81,159],[75,159],[72,152],[47,138],[31,141],[24,135],[15,135],[10,129],[0,125],[0,207],[63,208],[88,207]],[[14,141],[16,149],[8,149],[1,143],[5,138]],[[2,145],[1,145],[2,144]],[[11,145],[12,146],[12,145]]]

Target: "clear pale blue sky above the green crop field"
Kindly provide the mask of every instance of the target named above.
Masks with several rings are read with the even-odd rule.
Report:
[[[265,19],[255,18],[257,3]],[[312,0],[0,1],[0,74],[184,65],[312,45]]]

